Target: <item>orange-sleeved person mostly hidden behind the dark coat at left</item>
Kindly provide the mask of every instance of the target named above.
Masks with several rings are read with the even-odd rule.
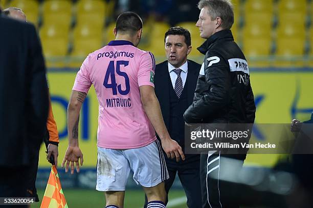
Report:
[[[10,7],[4,10],[4,14],[14,19],[27,22],[26,15],[24,14],[23,10],[21,10],[20,8]],[[54,120],[50,99],[49,99],[49,114],[48,114],[47,128],[46,128],[46,134],[44,134],[43,136],[43,141],[46,144],[46,147],[48,150],[47,160],[50,161],[50,157],[52,155],[53,161],[57,167],[59,135],[58,135],[57,125]],[[39,198],[38,198],[35,183],[36,183],[36,177],[37,177],[37,171],[38,171],[39,151],[37,152],[34,151],[32,153],[34,154],[31,160],[34,161],[35,163],[32,164],[32,167],[29,172],[29,176],[30,176],[29,185],[26,191],[29,197],[34,197],[35,201],[38,202]]]

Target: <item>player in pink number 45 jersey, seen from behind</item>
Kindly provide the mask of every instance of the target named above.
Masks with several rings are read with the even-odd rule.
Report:
[[[78,146],[79,112],[94,85],[99,101],[96,189],[104,191],[106,207],[123,207],[132,170],[132,178],[147,194],[147,207],[162,208],[168,172],[161,148],[168,158],[178,161],[180,157],[185,160],[185,156],[181,146],[170,138],[154,94],[154,57],[137,48],[142,35],[141,18],[133,12],[122,13],[114,34],[116,39],[89,54],[77,73],[68,107],[69,146],[62,167],[66,162],[67,172],[71,165],[73,174],[74,162],[77,172],[79,160],[83,164]]]

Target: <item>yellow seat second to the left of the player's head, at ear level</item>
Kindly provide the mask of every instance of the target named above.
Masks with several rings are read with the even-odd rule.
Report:
[[[62,38],[66,39],[69,37],[69,28],[59,27],[57,24],[44,24],[40,28],[40,38],[52,39],[52,38]]]

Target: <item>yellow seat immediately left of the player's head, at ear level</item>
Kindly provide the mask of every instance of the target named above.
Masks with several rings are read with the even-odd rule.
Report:
[[[102,28],[93,27],[90,24],[78,24],[74,28],[74,39],[102,39]]]

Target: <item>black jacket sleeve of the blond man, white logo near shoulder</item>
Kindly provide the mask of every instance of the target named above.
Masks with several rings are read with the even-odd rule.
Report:
[[[186,110],[185,121],[202,122],[224,108],[230,101],[230,84],[228,63],[218,53],[210,51],[204,62],[204,75],[200,70],[195,91],[200,96],[195,96],[192,105]]]

